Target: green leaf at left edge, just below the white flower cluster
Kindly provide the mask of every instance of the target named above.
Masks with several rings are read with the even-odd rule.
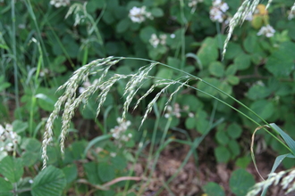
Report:
[[[9,182],[17,183],[23,174],[22,160],[20,158],[5,157],[0,162],[0,174]]]

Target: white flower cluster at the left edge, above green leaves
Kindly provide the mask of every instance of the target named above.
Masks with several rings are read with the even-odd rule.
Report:
[[[14,151],[19,140],[20,136],[13,132],[12,125],[7,124],[5,127],[0,125],[0,152]]]

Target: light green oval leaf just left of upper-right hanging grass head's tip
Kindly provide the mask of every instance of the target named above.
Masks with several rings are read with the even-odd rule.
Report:
[[[216,61],[218,58],[218,47],[215,38],[206,37],[198,50],[197,56],[204,67],[207,67],[210,62]]]

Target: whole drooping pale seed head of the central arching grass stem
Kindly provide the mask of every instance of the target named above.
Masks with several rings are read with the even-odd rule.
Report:
[[[84,65],[80,69],[77,69],[72,77],[65,83],[63,86],[60,86],[58,90],[64,89],[63,95],[58,99],[58,101],[55,103],[55,110],[50,114],[49,118],[46,121],[46,131],[44,133],[44,138],[42,142],[42,159],[43,159],[43,168],[46,167],[46,148],[49,145],[49,143],[52,141],[53,137],[53,125],[55,122],[55,119],[59,116],[59,113],[62,110],[63,107],[63,114],[62,114],[62,130],[60,135],[60,146],[61,151],[64,151],[64,141],[67,134],[67,130],[70,127],[70,122],[73,118],[74,111],[80,106],[81,103],[84,104],[84,106],[87,104],[90,95],[95,94],[99,92],[97,95],[97,116],[99,115],[99,112],[101,110],[101,107],[103,103],[105,102],[106,95],[110,92],[110,89],[114,84],[124,78],[129,78],[129,81],[127,85],[125,86],[124,94],[123,96],[126,96],[126,100],[123,104],[123,111],[122,111],[122,121],[125,120],[126,114],[130,108],[130,104],[134,98],[134,95],[139,91],[139,88],[143,85],[143,83],[146,81],[146,79],[151,79],[155,77],[151,77],[148,75],[149,71],[153,69],[156,66],[156,62],[152,62],[146,67],[143,67],[139,69],[139,71],[135,74],[129,74],[129,75],[121,75],[121,74],[114,74],[113,76],[110,76],[109,69],[119,61],[123,60],[125,58],[123,57],[108,57],[105,59],[98,59],[96,61],[91,61],[89,64]],[[87,81],[90,75],[93,74],[100,74],[100,78],[95,80],[92,85],[86,87],[86,89],[79,95],[77,95],[76,92],[78,92],[80,84]],[[168,101],[166,102],[166,105],[171,102],[172,97],[174,94],[176,94],[182,86],[185,86],[186,83],[189,81],[188,78],[185,77],[187,80],[183,82],[184,78],[180,78],[178,80],[171,80],[171,79],[163,79],[163,78],[155,78],[156,84],[152,86],[150,89],[147,90],[147,93],[144,94],[142,97],[139,98],[137,101],[135,108],[139,106],[139,102],[142,101],[145,97],[147,97],[148,94],[151,94],[156,86],[160,86],[162,89],[159,93],[156,94],[154,99],[148,103],[147,110],[141,120],[141,125],[143,122],[147,119],[148,113],[152,110],[153,105],[156,103],[158,98],[161,94],[164,93],[166,89],[169,88],[169,86],[173,85],[180,85],[176,88],[176,90],[173,92],[173,94],[170,95]],[[192,78],[190,78],[192,79]],[[164,87],[163,87],[164,86]],[[140,125],[140,126],[141,126]]]

